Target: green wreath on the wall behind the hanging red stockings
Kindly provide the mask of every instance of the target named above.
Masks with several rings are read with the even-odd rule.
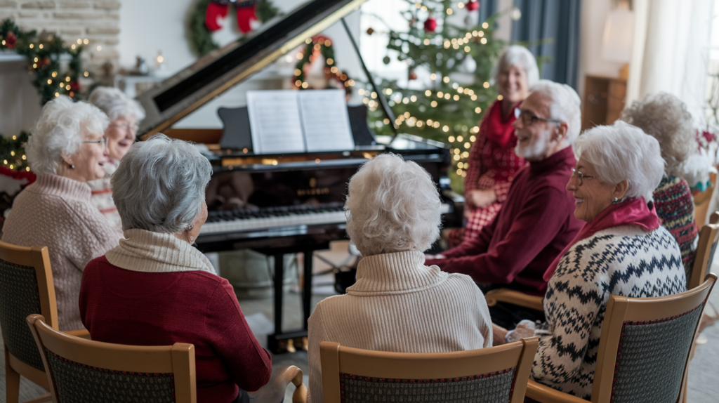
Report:
[[[249,4],[252,0],[244,2],[231,0],[199,0],[197,2],[195,9],[193,9],[190,14],[188,31],[193,50],[195,50],[199,56],[206,55],[219,48],[219,45],[212,40],[212,33],[206,25],[208,7],[213,2],[220,4],[236,3],[237,6],[240,6],[241,4]],[[255,15],[260,22],[267,22],[280,14],[280,10],[273,6],[270,0],[257,0],[254,5]]]

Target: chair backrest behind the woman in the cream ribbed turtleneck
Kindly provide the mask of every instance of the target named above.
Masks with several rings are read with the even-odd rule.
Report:
[[[324,401],[523,402],[538,344],[527,338],[480,350],[388,353],[323,341]]]

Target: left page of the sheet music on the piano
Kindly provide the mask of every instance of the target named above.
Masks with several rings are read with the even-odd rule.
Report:
[[[282,154],[305,152],[298,106],[301,91],[247,91],[252,152]]]

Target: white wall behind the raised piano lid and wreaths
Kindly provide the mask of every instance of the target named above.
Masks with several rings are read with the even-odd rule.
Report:
[[[157,51],[162,51],[167,73],[177,73],[196,60],[187,39],[186,23],[188,15],[196,0],[175,0],[171,3],[162,0],[126,0],[120,11],[120,63],[125,68],[132,68],[137,55],[147,60],[154,67]],[[281,11],[291,11],[303,4],[302,0],[273,0],[273,4]],[[354,11],[347,22],[359,37],[359,12]],[[220,45],[233,40],[237,32],[237,20],[234,9],[231,9],[222,23],[223,29],[214,34]],[[357,57],[349,42],[347,33],[340,22],[324,31],[334,43],[337,66],[352,78],[364,80]],[[294,52],[290,52],[294,55]],[[175,128],[221,128],[222,123],[216,114],[217,108],[234,108],[244,106],[244,94],[250,89],[288,88],[296,60],[287,62],[278,60],[275,67],[255,76],[248,83],[243,83],[215,98],[202,108],[179,121]]]

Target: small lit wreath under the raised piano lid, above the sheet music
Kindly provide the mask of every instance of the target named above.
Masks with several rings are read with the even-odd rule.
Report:
[[[293,85],[297,89],[306,89],[309,84],[305,80],[305,69],[319,57],[324,57],[324,74],[326,78],[337,80],[337,82],[344,85],[345,91],[350,93],[352,86],[354,86],[354,80],[347,77],[347,74],[342,73],[336,65],[334,65],[334,49],[332,48],[332,41],[324,35],[316,35],[311,39],[305,41],[306,46],[299,55],[301,59],[295,66],[295,75],[293,78]],[[298,57],[299,57],[298,55]]]

